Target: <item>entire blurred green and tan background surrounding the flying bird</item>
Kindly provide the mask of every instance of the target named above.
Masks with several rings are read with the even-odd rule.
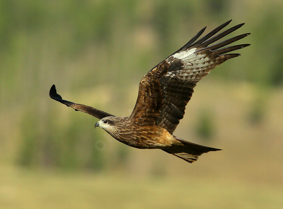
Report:
[[[280,208],[282,15],[281,0],[0,1],[0,208]],[[223,151],[127,147],[49,98],[55,84],[127,116],[146,72],[229,19],[252,45],[198,83],[174,133]]]

